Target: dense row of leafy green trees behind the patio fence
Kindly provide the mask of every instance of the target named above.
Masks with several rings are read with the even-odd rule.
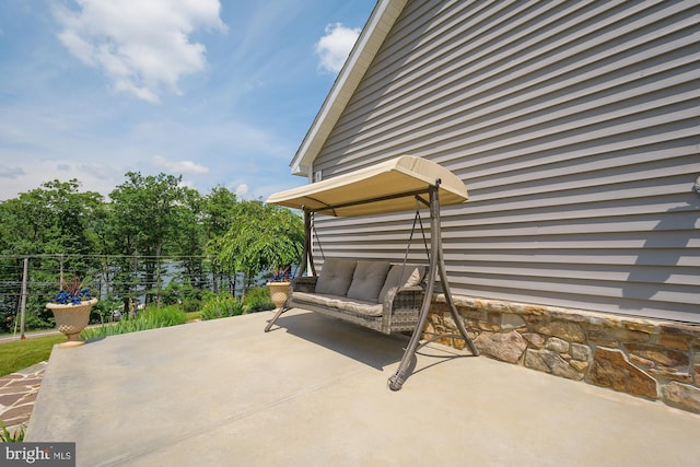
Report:
[[[145,293],[147,302],[166,300],[192,304],[205,288],[234,294],[261,272],[298,262],[303,245],[300,215],[261,201],[238,201],[234,192],[217,186],[207,196],[180,186],[182,177],[167,174],[125,175],[105,201],[100,194],[80,191],[77,179],[52,180],[18,198],[0,201],[0,327],[11,326],[19,310],[23,258],[31,256],[27,311],[37,324],[51,325],[44,308],[58,285],[60,271],[100,281],[100,305]],[[182,271],[166,257],[182,258]],[[178,261],[178,265],[180,261]],[[182,277],[177,276],[182,273]],[[40,289],[40,290],[39,290]]]

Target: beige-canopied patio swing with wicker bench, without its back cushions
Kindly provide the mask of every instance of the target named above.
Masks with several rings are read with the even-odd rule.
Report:
[[[277,319],[292,307],[318,312],[384,334],[410,330],[412,335],[401,362],[388,381],[389,388],[393,390],[401,388],[409,375],[416,352],[434,340],[445,337],[464,339],[471,353],[478,355],[479,351],[467,335],[450,292],[441,235],[441,205],[458,205],[466,201],[467,198],[466,187],[456,175],[434,162],[410,155],[402,155],[352,173],[270,196],[267,200],[268,203],[301,209],[304,212],[305,241],[299,275],[303,275],[306,265],[308,265],[312,276],[298,277],[292,281],[288,302],[277,311],[265,330],[269,331]],[[428,272],[424,275],[423,283],[419,287],[418,283],[408,283],[405,279],[411,276],[406,273],[407,258],[417,223],[420,223],[422,231],[421,207],[427,207],[430,210],[431,235],[430,250],[427,252],[429,256]],[[404,262],[394,265],[393,268],[397,268],[396,270],[389,270],[388,276],[392,278],[387,277],[387,283],[382,291],[384,293],[388,290],[388,292],[383,300],[380,300],[380,303],[374,305],[362,301],[352,302],[343,300],[345,297],[325,295],[315,290],[319,276],[316,275],[313,259],[312,234],[314,229],[312,222],[316,213],[334,217],[360,217],[413,209],[416,209],[416,217]],[[424,232],[423,241],[425,243]],[[325,269],[330,268],[331,262],[332,260],[326,259],[322,277]],[[409,268],[413,279],[416,271],[418,269],[411,270]],[[438,275],[440,275],[443,293],[459,335],[433,334],[430,339],[421,343],[421,335],[424,334]],[[398,278],[398,281],[394,288],[390,288],[394,277]]]

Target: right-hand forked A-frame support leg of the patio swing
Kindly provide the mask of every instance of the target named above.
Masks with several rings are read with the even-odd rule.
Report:
[[[435,279],[438,272],[440,272],[440,280],[442,281],[443,291],[445,293],[445,300],[450,306],[452,317],[457,324],[457,329],[462,338],[467,342],[469,350],[476,357],[479,354],[478,349],[467,335],[467,330],[464,327],[462,317],[459,316],[452,294],[450,292],[450,282],[447,281],[447,275],[445,272],[445,261],[442,256],[442,234],[440,231],[440,199],[438,197],[440,188],[440,179],[435,182],[434,186],[430,188],[430,266],[428,269],[428,287],[425,289],[425,295],[423,296],[423,303],[421,305],[420,315],[411,339],[408,342],[408,347],[404,352],[404,358],[396,370],[396,373],[389,377],[388,385],[392,390],[399,390],[404,385],[406,378],[410,375],[409,369],[411,363],[416,359],[416,351],[420,347],[420,338],[425,329],[425,323],[428,322],[428,314],[430,313],[430,304],[432,301],[433,292],[435,289]]]

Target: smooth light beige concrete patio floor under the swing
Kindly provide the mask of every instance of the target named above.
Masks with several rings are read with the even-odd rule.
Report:
[[[305,311],[55,348],[26,441],[79,466],[692,466],[700,416]]]

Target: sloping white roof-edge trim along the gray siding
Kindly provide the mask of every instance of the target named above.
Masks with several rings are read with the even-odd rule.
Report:
[[[348,105],[360,80],[368,71],[370,63],[407,1],[380,0],[377,2],[338,78],[336,78],[330,92],[320,106],[320,110],[316,114],[314,122],[290,163],[292,175],[312,176],[312,167],[318,151],[320,151],[323,143],[330,135],[338,118],[340,118],[340,114]]]

